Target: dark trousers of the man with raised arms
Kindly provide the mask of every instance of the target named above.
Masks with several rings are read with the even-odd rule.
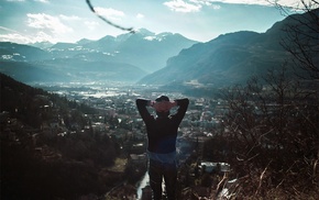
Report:
[[[168,200],[176,199],[177,166],[176,163],[164,164],[150,159],[148,166],[150,185],[154,200],[162,199],[162,180],[165,181],[165,190]]]

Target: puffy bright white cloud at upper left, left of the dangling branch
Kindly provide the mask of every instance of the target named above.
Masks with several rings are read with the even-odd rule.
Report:
[[[28,26],[37,30],[52,32],[54,34],[63,34],[73,32],[73,30],[63,24],[58,18],[45,13],[32,14],[28,13]]]

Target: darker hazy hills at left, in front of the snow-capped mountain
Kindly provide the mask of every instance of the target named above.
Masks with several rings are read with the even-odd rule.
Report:
[[[2,54],[0,73],[14,77],[22,82],[134,82],[146,75],[145,71],[136,66],[94,59],[92,56],[91,59],[86,59],[85,54],[52,58],[52,54],[40,48],[11,43],[1,44],[1,46],[6,45],[13,47],[10,47],[11,51],[8,51],[9,48],[0,51],[0,54]]]

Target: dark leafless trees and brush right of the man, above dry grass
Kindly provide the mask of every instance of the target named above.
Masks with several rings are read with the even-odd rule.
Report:
[[[318,188],[318,102],[304,91],[286,66],[270,70],[263,82],[252,78],[224,91],[230,160],[240,176],[249,175],[248,190],[261,190],[261,182],[300,192]]]

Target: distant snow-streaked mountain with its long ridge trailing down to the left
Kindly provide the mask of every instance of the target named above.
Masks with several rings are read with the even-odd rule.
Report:
[[[127,33],[117,37],[106,35],[98,41],[80,40],[77,43],[57,43],[47,51],[55,58],[80,54],[87,59],[127,63],[146,73],[154,73],[165,67],[169,57],[196,43],[180,34],[155,34],[140,29],[134,34]]]

